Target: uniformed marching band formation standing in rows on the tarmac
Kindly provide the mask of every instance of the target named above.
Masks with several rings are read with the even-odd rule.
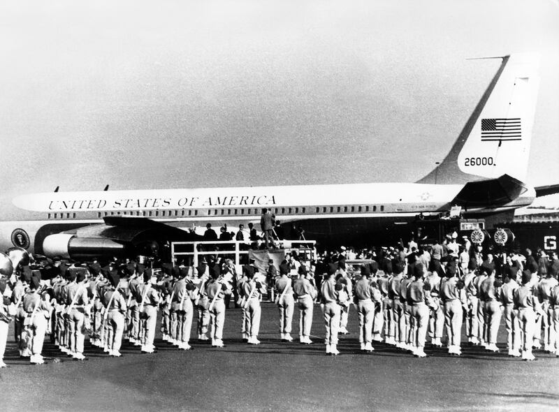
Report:
[[[533,349],[559,356],[556,253],[483,253],[467,238],[463,244],[456,238],[453,233],[429,247],[413,240],[407,247],[340,247],[311,261],[291,253],[279,265],[270,260],[266,273],[258,272],[254,260],[238,266],[210,254],[198,267],[141,257],[101,265],[39,260],[13,248],[0,254],[0,367],[6,367],[2,359],[12,321],[20,356],[36,365],[45,362],[45,336],[75,360],[87,358],[86,337],[114,357],[121,356],[123,339],[138,352],[154,353],[158,316],[163,339],[178,350],[191,350],[193,318],[198,341],[219,349],[231,304],[240,308],[243,341],[258,345],[265,297],[277,305],[282,341],[293,340],[298,308],[298,339],[306,345],[313,344],[312,316],[319,304],[328,355],[340,353],[338,335],[349,334],[353,312],[363,353],[384,341],[424,358],[428,339],[450,355],[460,356],[465,344],[497,353],[504,317],[509,356],[535,360]],[[463,328],[467,343],[461,341]]]

